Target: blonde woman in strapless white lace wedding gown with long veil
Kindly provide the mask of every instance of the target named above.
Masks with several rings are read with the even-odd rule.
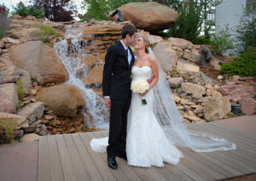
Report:
[[[177,110],[163,70],[148,45],[147,37],[138,33],[134,43],[137,57],[132,67],[132,80],[147,80],[151,76],[154,79],[149,90],[143,94],[132,92],[127,119],[127,163],[142,167],[177,164],[183,155],[175,145],[192,148],[196,152],[236,149],[234,143],[223,138],[188,130]],[[141,97],[145,97],[147,105],[141,104]],[[108,137],[94,138],[90,145],[97,152],[106,152]]]

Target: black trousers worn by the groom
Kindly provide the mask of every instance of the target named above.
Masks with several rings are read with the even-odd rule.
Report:
[[[131,98],[125,100],[111,99],[109,119],[108,157],[115,158],[125,155],[127,114],[131,105]]]

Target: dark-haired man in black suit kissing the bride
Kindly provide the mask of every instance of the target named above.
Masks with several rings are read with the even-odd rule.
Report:
[[[121,35],[122,40],[108,48],[102,80],[105,104],[111,107],[107,154],[108,166],[112,169],[117,168],[116,156],[127,160],[127,113],[131,105],[131,68],[134,64],[129,45],[136,40],[137,29],[131,24],[124,25]]]

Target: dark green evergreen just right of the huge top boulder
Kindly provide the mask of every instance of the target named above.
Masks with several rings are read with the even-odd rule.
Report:
[[[169,28],[168,36],[194,41],[200,34],[203,22],[200,18],[200,8],[196,8],[194,0],[191,0],[188,8],[181,8],[179,12],[175,25]]]

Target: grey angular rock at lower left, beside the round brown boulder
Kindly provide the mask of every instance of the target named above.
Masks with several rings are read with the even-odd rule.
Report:
[[[26,118],[29,124],[31,124],[42,117],[44,108],[44,103],[42,102],[29,103],[28,105],[20,108],[17,114]]]

